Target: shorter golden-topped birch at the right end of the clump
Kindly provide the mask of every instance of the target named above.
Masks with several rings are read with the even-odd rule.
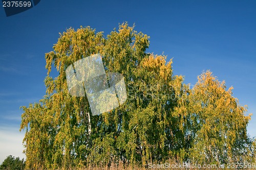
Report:
[[[247,135],[250,115],[246,106],[240,106],[232,96],[232,87],[226,90],[206,71],[189,90],[175,109],[183,117],[184,138],[191,141],[189,159],[199,163],[228,163],[255,161],[255,143]]]

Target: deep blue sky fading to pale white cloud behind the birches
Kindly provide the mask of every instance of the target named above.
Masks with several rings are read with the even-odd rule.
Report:
[[[20,106],[45,94],[45,53],[59,32],[91,26],[109,34],[118,23],[135,23],[150,36],[147,52],[173,58],[175,75],[192,85],[210,69],[241,105],[254,113],[248,126],[256,136],[256,1],[41,1],[23,13],[6,17],[0,7],[0,163],[21,158]]]

